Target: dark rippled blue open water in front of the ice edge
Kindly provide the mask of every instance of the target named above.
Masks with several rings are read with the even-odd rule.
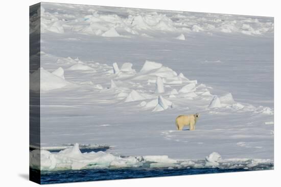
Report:
[[[249,171],[245,169],[85,169],[41,172],[41,184]],[[32,172],[38,172],[32,170]]]

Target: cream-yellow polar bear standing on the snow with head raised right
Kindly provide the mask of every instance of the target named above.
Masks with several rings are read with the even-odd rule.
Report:
[[[199,117],[199,113],[178,116],[176,118],[177,130],[182,130],[184,126],[190,126],[190,130],[195,130],[195,125]]]

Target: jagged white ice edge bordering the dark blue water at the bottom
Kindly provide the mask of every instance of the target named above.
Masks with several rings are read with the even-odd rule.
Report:
[[[40,159],[39,159],[40,158]],[[30,151],[30,167],[41,171],[114,169],[114,168],[220,168],[220,169],[272,169],[271,159],[222,159],[217,152],[205,159],[172,159],[167,155],[120,156],[99,152],[84,152],[79,144],[59,152],[35,149]]]

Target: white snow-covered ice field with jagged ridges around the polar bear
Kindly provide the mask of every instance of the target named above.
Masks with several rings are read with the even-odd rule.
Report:
[[[45,170],[94,167],[95,159],[98,166],[135,166],[146,155],[177,161],[150,167],[273,162],[273,18],[41,5],[45,42],[31,60],[40,55],[44,69],[30,75],[40,71],[41,146],[111,146],[103,153],[44,150]],[[188,40],[175,39],[181,34]],[[31,91],[39,90],[31,82]],[[196,130],[176,130],[178,115],[197,112]],[[222,159],[208,156],[213,152]]]

